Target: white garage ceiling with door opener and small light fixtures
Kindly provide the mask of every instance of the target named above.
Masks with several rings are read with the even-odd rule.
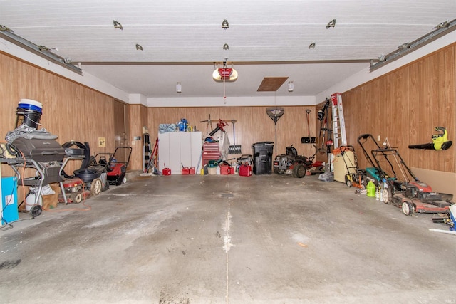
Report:
[[[271,76],[317,95],[455,17],[455,0],[0,0],[2,26],[146,97],[175,97],[177,81],[182,98],[218,96],[211,75],[224,60],[239,73],[227,84],[233,96],[258,95]]]

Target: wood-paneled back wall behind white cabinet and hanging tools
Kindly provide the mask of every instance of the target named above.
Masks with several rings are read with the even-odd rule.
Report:
[[[301,137],[316,136],[316,112],[314,106],[284,107],[284,115],[277,122],[276,147],[274,153],[285,153],[286,146],[294,145],[299,154],[311,156],[315,148],[309,144],[301,144]],[[306,110],[309,114],[309,127],[307,125]],[[212,127],[217,127],[221,120],[237,120],[234,125],[236,145],[241,145],[242,154],[253,154],[252,144],[256,142],[274,142],[274,121],[266,113],[266,107],[214,107],[214,108],[149,108],[147,110],[150,135],[152,143],[155,142],[160,123],[177,123],[185,118],[189,125],[197,127],[203,132],[203,136],[209,136],[210,125],[201,122],[211,115]],[[233,126],[229,123],[224,127],[229,141],[234,145]],[[219,133],[214,134],[217,137]],[[276,148],[276,150],[275,150]],[[232,155],[239,157],[239,155]]]

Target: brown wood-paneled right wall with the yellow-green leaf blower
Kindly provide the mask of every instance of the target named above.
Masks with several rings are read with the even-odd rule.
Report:
[[[357,138],[370,133],[380,135],[380,146],[387,137],[408,167],[456,172],[455,145],[445,151],[408,149],[432,142],[437,126],[456,140],[455,64],[452,45],[343,93],[348,144],[355,146],[360,167],[368,163]],[[367,146],[368,152],[373,148]]]

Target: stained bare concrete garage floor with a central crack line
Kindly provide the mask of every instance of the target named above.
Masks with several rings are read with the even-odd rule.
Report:
[[[456,303],[447,226],[355,190],[138,177],[1,232],[0,302]]]

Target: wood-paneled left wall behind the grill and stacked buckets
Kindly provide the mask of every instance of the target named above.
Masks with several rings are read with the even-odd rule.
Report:
[[[43,104],[41,125],[61,145],[76,140],[88,142],[92,152],[114,150],[113,98],[105,94],[0,53],[0,98],[0,141],[14,130],[19,100],[27,98]],[[98,147],[98,137],[106,147]],[[7,165],[1,169],[12,174]]]

